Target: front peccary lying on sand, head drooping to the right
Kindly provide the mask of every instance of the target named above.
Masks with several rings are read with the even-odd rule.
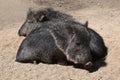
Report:
[[[44,33],[43,37],[38,35],[41,34],[40,29],[44,29],[44,31],[42,31]],[[36,32],[37,30],[39,30],[39,32]],[[49,33],[45,30],[49,31]],[[36,60],[51,63],[55,56],[59,55],[58,59],[62,59],[63,61],[66,61],[63,59],[63,57],[66,56],[68,61],[81,64],[85,68],[92,66],[92,56],[89,47],[90,35],[87,27],[74,21],[55,20],[43,24],[42,27],[33,32],[31,32],[21,44],[16,61],[28,62]],[[58,35],[56,35],[56,33]],[[49,34],[51,34],[53,39],[50,40]],[[61,44],[58,44],[59,41]],[[63,52],[62,54],[59,53],[59,49]],[[60,57],[60,55],[64,56]]]

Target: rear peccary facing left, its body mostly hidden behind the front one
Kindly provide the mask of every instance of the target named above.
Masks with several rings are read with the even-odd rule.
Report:
[[[29,10],[27,19],[20,28],[18,34],[20,36],[27,36],[32,30],[41,27],[42,24],[46,24],[48,26],[48,23],[53,21],[52,25],[54,25],[55,23],[58,23],[59,20],[74,21],[70,15],[55,11],[52,8],[45,8],[38,11]],[[80,25],[88,27],[88,22],[85,24],[80,23]],[[90,49],[93,60],[99,60],[106,57],[107,47],[105,46],[102,37],[93,29],[90,29],[89,27],[87,29],[91,35]]]

